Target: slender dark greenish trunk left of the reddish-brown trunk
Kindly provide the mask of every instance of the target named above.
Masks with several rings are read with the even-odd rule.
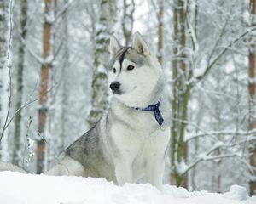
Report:
[[[23,95],[23,69],[24,69],[24,54],[25,47],[22,40],[26,39],[26,19],[27,19],[27,0],[20,1],[20,44],[19,44],[19,54],[18,54],[18,70],[17,70],[17,90],[16,90],[16,108],[18,110],[22,105],[22,95]],[[21,111],[15,116],[15,139],[14,139],[14,149],[13,149],[13,161],[15,165],[19,164],[19,151],[20,151],[20,122],[21,122]]]

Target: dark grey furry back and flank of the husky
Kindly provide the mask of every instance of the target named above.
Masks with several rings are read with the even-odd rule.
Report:
[[[113,162],[104,144],[108,137],[105,120],[106,116],[102,116],[101,121],[71,144],[65,154],[83,165],[86,177],[104,177],[115,181]]]

